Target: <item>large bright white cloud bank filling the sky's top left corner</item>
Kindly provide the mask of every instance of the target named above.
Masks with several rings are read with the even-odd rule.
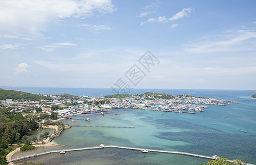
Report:
[[[64,18],[81,18],[89,15],[114,12],[110,0],[8,0],[1,1],[0,30],[38,32],[49,21]]]

